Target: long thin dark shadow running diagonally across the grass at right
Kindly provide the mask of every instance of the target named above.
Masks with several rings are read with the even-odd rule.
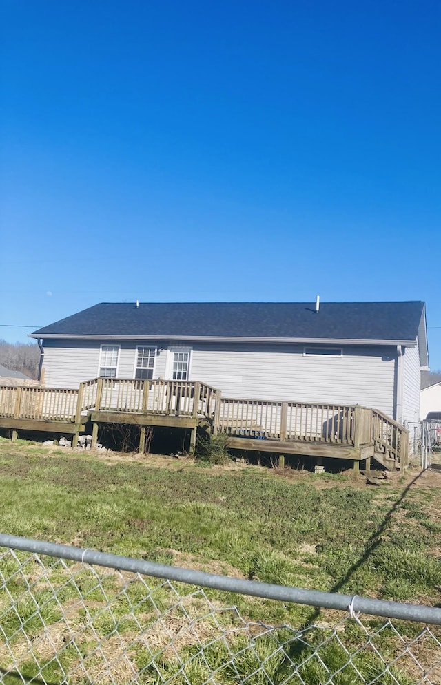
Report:
[[[378,545],[380,545],[380,543],[381,543],[381,536],[384,533],[384,530],[389,525],[393,514],[395,514],[396,510],[398,509],[400,504],[403,502],[404,498],[406,498],[406,496],[409,493],[409,490],[411,489],[412,485],[414,485],[416,483],[416,481],[418,481],[418,478],[420,478],[422,476],[422,473],[423,472],[420,472],[418,474],[418,476],[415,476],[415,478],[413,478],[413,480],[410,483],[408,483],[408,485],[404,488],[404,490],[402,491],[402,493],[400,494],[400,496],[398,497],[396,502],[393,503],[392,507],[389,509],[387,514],[384,516],[384,519],[382,520],[381,525],[378,527],[378,529],[371,535],[371,537],[367,541],[367,546],[365,548],[364,553],[360,557],[360,559],[358,559],[347,570],[345,575],[342,576],[342,578],[340,578],[340,580],[338,580],[338,582],[336,582],[336,584],[334,584],[333,587],[331,587],[329,592],[338,593],[338,591],[340,591],[342,589],[342,587],[345,586],[345,584],[348,582],[348,580],[350,580],[351,576],[353,576],[353,574],[356,573],[356,571],[358,571],[358,569],[367,561],[367,559],[369,559],[371,554],[373,554],[373,552],[376,551]],[[314,611],[312,611],[311,614],[308,616],[305,623],[302,626],[300,626],[300,630],[305,630],[309,626],[311,626],[311,624],[314,624],[316,622],[316,620],[318,619],[318,617],[320,616],[320,611],[321,610],[319,607],[315,608]],[[348,611],[349,611],[349,607],[348,607]],[[302,655],[302,652],[304,652],[305,649],[309,649],[309,646],[306,644],[298,644],[297,641],[294,642],[289,647],[289,649],[286,650],[285,659],[283,660],[282,664],[280,664],[280,667],[278,668],[278,673],[276,675],[283,672],[283,668],[285,668],[287,661],[289,662],[289,660],[291,660],[291,662],[296,663],[296,659],[298,659],[298,657],[300,657]]]

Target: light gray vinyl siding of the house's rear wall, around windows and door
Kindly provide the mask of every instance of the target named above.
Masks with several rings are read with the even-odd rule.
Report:
[[[99,375],[100,341],[43,341],[43,346],[47,387],[78,388],[81,381]],[[294,345],[185,347],[192,348],[189,379],[219,388],[224,397],[358,403],[393,416],[396,352],[390,347],[347,346],[341,357],[305,356],[303,346]],[[134,378],[135,361],[136,341],[122,342],[118,377]],[[155,378],[166,378],[166,362],[163,349],[156,355]]]

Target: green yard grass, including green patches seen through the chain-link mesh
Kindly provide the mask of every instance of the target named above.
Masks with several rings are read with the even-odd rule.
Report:
[[[441,488],[428,494],[418,485],[408,489],[406,483],[400,479],[382,489],[354,487],[345,476],[302,473],[291,479],[257,467],[212,470],[185,461],[164,460],[161,466],[157,460],[152,464],[148,459],[125,462],[62,450],[43,454],[39,445],[0,440],[0,529],[263,582],[436,604],[441,585],[441,563],[436,556]],[[54,567],[48,577],[59,603],[47,587],[36,582],[36,613],[35,602],[23,595],[23,578],[14,576],[12,567],[7,558],[0,568],[10,578],[8,590],[17,598],[14,609],[5,609],[8,598],[0,593],[0,615],[6,611],[3,631],[12,642],[20,639],[23,624],[30,639],[38,637],[41,616],[46,625],[58,625],[63,607],[77,597],[78,589],[99,635],[136,633],[140,617],[148,620],[156,607],[167,611],[171,606],[172,596],[161,581],[147,580],[152,594],[146,598],[145,586],[139,582],[121,591],[118,578],[111,575],[97,587],[96,576],[84,570],[74,585],[63,568]],[[181,584],[179,589],[184,596],[194,591]],[[216,605],[235,604],[240,615],[254,622],[296,627],[325,615],[311,607],[231,593],[206,590],[205,595]],[[108,597],[114,597],[111,609]],[[130,607],[135,607],[132,613]],[[80,623],[85,618],[81,612],[76,616]],[[225,614],[225,621],[231,620]],[[350,622],[345,624],[347,640],[357,644],[361,638],[351,636],[350,626]],[[259,638],[253,649],[246,646],[248,638],[239,649],[240,639],[232,637],[238,647],[234,666],[225,666],[225,643],[216,642],[203,655],[192,645],[183,646],[188,673],[179,675],[181,666],[171,657],[165,658],[163,673],[175,673],[176,684],[179,678],[197,683],[203,682],[207,669],[219,669],[219,682],[233,684],[255,668],[253,660],[263,659],[274,683],[279,676],[284,682],[285,662],[280,662],[280,655],[272,656],[274,636]],[[90,653],[93,640],[90,643],[88,635],[82,640],[77,647]],[[391,637],[388,640],[395,644]],[[336,645],[324,651],[319,662],[307,661],[302,666],[305,673],[299,671],[300,679],[292,682],[324,682],[326,668],[334,668],[334,662],[341,669],[334,682],[360,682],[352,667],[348,670],[344,662],[340,664],[344,655],[339,649]],[[138,645],[130,659],[136,668],[145,668],[146,683],[155,682],[147,652]],[[63,646],[63,659],[63,668],[78,659],[72,645]],[[369,665],[362,653],[358,659],[360,668],[371,669],[372,677],[380,673],[376,671],[380,666],[372,660]],[[34,676],[34,661],[26,663],[23,673]],[[45,669],[48,681],[60,679],[57,662],[48,660]],[[388,677],[378,682],[388,685],[393,682]],[[398,671],[394,677],[402,685],[413,682]],[[246,682],[267,681],[256,675]]]

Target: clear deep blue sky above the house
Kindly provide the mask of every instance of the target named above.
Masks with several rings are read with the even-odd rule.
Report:
[[[0,8],[0,338],[135,299],[441,326],[438,0]]]

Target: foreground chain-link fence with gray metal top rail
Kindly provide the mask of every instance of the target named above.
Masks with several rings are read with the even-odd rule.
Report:
[[[225,593],[317,609],[302,625],[267,624],[249,620]],[[435,685],[440,626],[438,608],[0,534],[6,685]]]

